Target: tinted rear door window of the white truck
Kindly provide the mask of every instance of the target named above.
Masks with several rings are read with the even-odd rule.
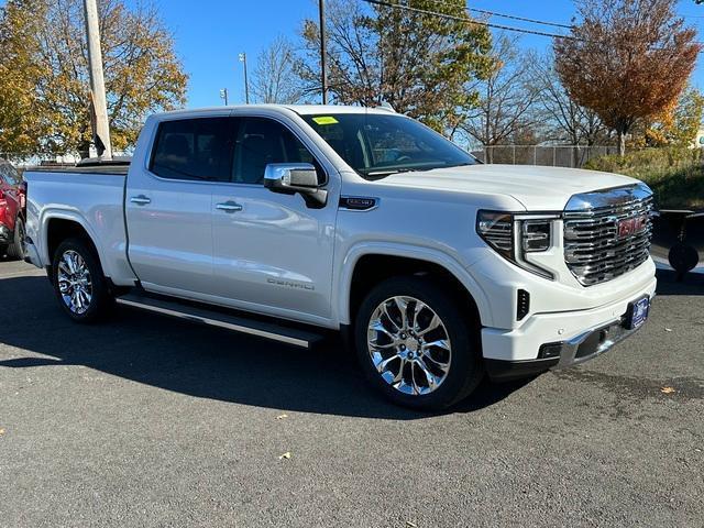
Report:
[[[233,136],[229,118],[164,121],[158,127],[150,169],[168,179],[228,182]]]

